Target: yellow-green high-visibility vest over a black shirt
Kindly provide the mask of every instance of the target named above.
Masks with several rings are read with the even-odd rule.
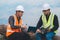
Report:
[[[44,14],[42,15],[42,22],[43,22],[44,28],[47,28],[50,26],[49,29],[52,29],[54,27],[53,21],[54,21],[54,14],[52,14],[52,13],[50,14],[48,21],[46,19],[46,16]],[[54,31],[54,32],[56,33],[56,31]]]

